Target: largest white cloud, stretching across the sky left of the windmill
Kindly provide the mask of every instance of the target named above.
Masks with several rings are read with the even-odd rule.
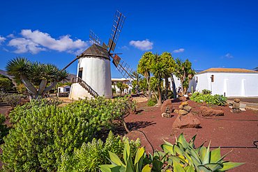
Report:
[[[89,42],[82,40],[72,40],[70,35],[60,36],[55,39],[48,33],[41,31],[31,31],[30,29],[24,29],[20,33],[23,38],[13,38],[13,34],[10,34],[10,40],[8,46],[16,47],[15,53],[31,52],[37,54],[40,51],[46,51],[47,49],[53,49],[59,52],[68,52],[70,54],[79,55],[86,47],[89,47]]]

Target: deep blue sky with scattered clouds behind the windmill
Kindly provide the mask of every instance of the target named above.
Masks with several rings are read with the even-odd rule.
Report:
[[[1,1],[0,69],[16,56],[64,68],[91,44],[108,42],[126,16],[115,52],[134,70],[144,52],[188,58],[195,70],[258,66],[258,1]],[[122,77],[112,66],[112,77]],[[77,63],[68,68],[76,74]]]

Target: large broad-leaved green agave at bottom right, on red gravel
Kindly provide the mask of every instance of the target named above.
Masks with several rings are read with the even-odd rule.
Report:
[[[220,157],[220,148],[210,151],[210,144],[208,148],[205,148],[202,143],[199,148],[195,149],[195,136],[192,137],[189,143],[185,140],[183,133],[180,134],[179,139],[172,145],[165,141],[160,147],[170,155],[167,158],[167,163],[174,166],[174,171],[179,172],[218,172],[228,171],[236,166],[240,166],[244,163],[223,161],[226,155]]]

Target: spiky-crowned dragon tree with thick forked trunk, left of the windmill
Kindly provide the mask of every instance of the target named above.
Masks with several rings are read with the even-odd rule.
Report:
[[[27,90],[35,95],[35,98],[43,96],[54,88],[59,81],[68,80],[70,75],[66,70],[59,70],[56,65],[31,63],[24,57],[16,57],[8,61],[6,70],[8,75],[14,76],[16,80],[20,79]],[[52,84],[45,88],[47,83]]]

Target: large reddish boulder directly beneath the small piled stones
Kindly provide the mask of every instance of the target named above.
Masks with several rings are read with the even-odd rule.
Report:
[[[177,116],[172,127],[174,128],[197,128],[201,125],[200,121],[192,114],[186,114],[185,116]]]

